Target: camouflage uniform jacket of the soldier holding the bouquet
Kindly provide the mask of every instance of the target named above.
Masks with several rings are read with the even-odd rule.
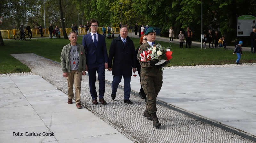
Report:
[[[141,57],[140,57],[140,54],[143,52],[143,51],[146,51],[147,48],[150,48],[151,46],[148,44],[148,42],[146,42],[145,44],[141,45],[140,46],[140,49],[139,49],[139,52],[137,54],[137,59],[139,60],[140,62],[140,65],[141,65],[141,71],[140,71],[140,74],[141,76],[153,76],[153,77],[156,77],[156,76],[160,76],[160,75],[163,75],[163,71],[162,70],[159,70],[159,68],[157,68],[156,65],[154,66],[151,66],[149,64],[149,62],[142,62],[140,61]],[[168,63],[170,63],[170,61],[166,61],[165,64],[167,65]]]

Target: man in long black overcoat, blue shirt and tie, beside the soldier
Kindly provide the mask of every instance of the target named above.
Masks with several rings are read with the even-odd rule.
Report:
[[[124,103],[132,104],[130,101],[131,94],[131,76],[132,71],[136,71],[136,54],[133,41],[127,36],[128,28],[121,27],[120,35],[113,39],[109,48],[108,71],[112,71],[113,60],[113,82],[111,98],[116,98],[116,91],[119,83],[124,78]]]

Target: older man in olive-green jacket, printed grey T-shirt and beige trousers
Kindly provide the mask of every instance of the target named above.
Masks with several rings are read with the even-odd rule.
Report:
[[[86,75],[84,46],[76,43],[77,34],[75,32],[70,32],[68,39],[70,40],[70,43],[63,47],[60,56],[63,77],[66,77],[68,83],[68,104],[73,103],[73,84],[75,83],[76,107],[82,108],[80,101],[81,81],[82,75]]]

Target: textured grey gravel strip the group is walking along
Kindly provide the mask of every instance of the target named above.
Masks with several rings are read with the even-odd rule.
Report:
[[[66,79],[62,77],[60,65],[33,54],[11,54],[26,64],[33,72],[40,75],[55,87],[67,93]],[[239,65],[240,66],[240,65]],[[192,66],[188,66],[191,68]],[[144,99],[131,94],[133,104],[124,104],[124,91],[117,90],[116,99],[111,99],[111,86],[106,84],[105,100],[107,105],[93,105],[89,92],[88,76],[83,76],[81,101],[90,109],[107,119],[141,143],[252,143],[253,141],[222,130],[218,127],[198,121],[180,112],[157,105],[157,116],[162,127],[154,128],[153,122],[143,117]],[[96,81],[96,89],[99,82]],[[74,89],[73,89],[74,90]],[[68,97],[67,97],[68,98]]]

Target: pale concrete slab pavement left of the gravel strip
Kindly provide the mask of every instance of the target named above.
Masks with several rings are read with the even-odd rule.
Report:
[[[92,112],[77,109],[67,100],[66,94],[39,75],[0,77],[0,142],[132,143]]]

